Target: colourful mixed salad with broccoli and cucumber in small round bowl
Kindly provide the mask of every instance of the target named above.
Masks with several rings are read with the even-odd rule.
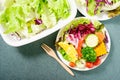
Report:
[[[59,33],[57,51],[72,68],[94,68],[108,54],[108,36],[99,21],[77,18]]]

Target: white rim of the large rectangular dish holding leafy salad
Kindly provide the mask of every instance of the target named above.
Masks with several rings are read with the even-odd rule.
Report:
[[[3,40],[8,45],[17,47],[17,46],[22,46],[22,45],[34,42],[34,41],[36,41],[38,39],[41,39],[41,38],[55,32],[55,31],[57,31],[58,29],[62,28],[64,25],[69,23],[71,20],[73,20],[75,18],[75,16],[76,16],[77,8],[76,8],[76,5],[75,5],[75,2],[73,0],[68,0],[68,2],[70,4],[70,8],[71,8],[70,16],[65,20],[59,20],[58,24],[56,24],[53,28],[44,30],[39,34],[37,34],[35,36],[32,36],[31,38],[25,38],[25,39],[22,39],[22,40],[15,40],[11,35],[3,34],[4,29],[2,28],[2,26],[0,26],[0,34],[1,34],[2,38],[3,38]]]

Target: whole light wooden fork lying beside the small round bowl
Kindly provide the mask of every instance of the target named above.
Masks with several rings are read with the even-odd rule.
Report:
[[[55,54],[55,52],[53,51],[52,48],[50,48],[49,46],[47,46],[46,44],[42,44],[41,47],[45,50],[45,52],[53,57],[70,75],[74,76],[74,73],[64,64],[62,63],[59,58],[57,57],[57,55]]]

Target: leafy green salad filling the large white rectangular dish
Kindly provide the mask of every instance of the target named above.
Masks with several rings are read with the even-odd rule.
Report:
[[[67,0],[3,0],[1,7],[4,34],[15,34],[21,39],[52,28],[70,15]]]

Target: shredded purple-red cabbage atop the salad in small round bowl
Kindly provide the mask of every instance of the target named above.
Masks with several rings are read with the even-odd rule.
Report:
[[[77,48],[78,41],[84,35],[95,33],[95,27],[90,24],[79,24],[76,28],[71,28],[68,31],[67,41],[73,44]]]

